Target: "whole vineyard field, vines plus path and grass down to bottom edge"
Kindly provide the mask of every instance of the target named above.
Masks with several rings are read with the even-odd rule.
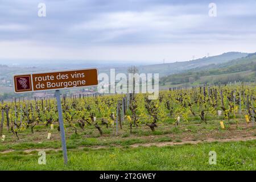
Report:
[[[255,96],[254,85],[172,88],[160,92],[157,100],[148,100],[147,94],[63,95],[71,155],[71,164],[66,167],[61,161],[56,100],[2,101],[0,169],[23,169],[23,164],[27,169],[137,169],[139,165],[138,169],[256,169]],[[174,148],[178,144],[180,148]],[[222,154],[216,166],[208,164],[212,149]],[[52,159],[47,160],[49,165],[37,164],[40,150]],[[191,154],[196,150],[198,153]],[[174,158],[165,159],[164,154]],[[183,166],[170,162],[187,155],[197,159],[188,159]],[[150,160],[153,167],[141,164],[140,159]],[[113,166],[105,166],[104,160]],[[184,168],[187,165],[190,167]]]

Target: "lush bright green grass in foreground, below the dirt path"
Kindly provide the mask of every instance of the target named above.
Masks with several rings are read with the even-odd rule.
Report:
[[[37,152],[10,152],[0,154],[0,170],[256,170],[255,142],[68,150],[67,166],[61,151],[47,151],[46,165]],[[208,163],[209,151],[216,151],[217,165]]]

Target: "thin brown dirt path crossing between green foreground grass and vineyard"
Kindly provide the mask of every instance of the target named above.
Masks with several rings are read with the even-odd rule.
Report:
[[[205,140],[197,140],[197,141],[192,141],[192,140],[187,140],[183,142],[154,142],[154,143],[138,143],[138,144],[131,144],[130,147],[150,147],[150,146],[157,146],[157,147],[163,147],[163,146],[174,146],[174,145],[180,145],[180,144],[198,144],[198,143],[211,143],[211,142],[239,142],[239,141],[246,141],[246,140],[256,140],[256,137],[238,137],[238,138],[227,138],[227,139],[214,139],[214,138],[209,138]],[[121,147],[121,146],[117,146]],[[75,150],[79,149],[82,150],[84,148],[92,148],[92,149],[100,149],[100,148],[108,148],[108,146],[81,146],[76,148]],[[23,152],[30,153],[34,151],[61,151],[62,148],[32,148],[32,149],[27,149],[24,150]],[[70,149],[73,150],[73,149]],[[14,152],[15,150],[6,150],[6,151],[1,151],[0,154],[7,154],[10,152]]]

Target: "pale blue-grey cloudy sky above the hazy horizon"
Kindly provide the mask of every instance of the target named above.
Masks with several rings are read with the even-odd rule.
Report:
[[[0,0],[0,60],[167,63],[256,52],[255,20],[255,0]]]

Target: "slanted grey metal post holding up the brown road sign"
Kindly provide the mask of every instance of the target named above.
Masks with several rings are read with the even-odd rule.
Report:
[[[61,107],[61,101],[60,101],[60,90],[56,90],[56,99],[57,99],[57,108],[58,108],[58,113],[59,113],[61,146],[62,146],[62,150],[63,150],[64,164],[67,164],[68,163],[68,155],[67,155],[67,146],[66,146],[66,139],[65,139],[62,107]]]

